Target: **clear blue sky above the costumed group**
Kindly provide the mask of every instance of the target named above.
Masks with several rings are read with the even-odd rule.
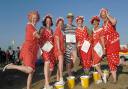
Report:
[[[90,27],[90,18],[98,15],[102,7],[108,8],[110,14],[117,18],[121,44],[128,43],[127,4],[128,0],[1,0],[0,47],[7,48],[12,40],[15,40],[15,45],[23,43],[29,11],[37,10],[40,13],[41,19],[37,28],[41,27],[42,18],[47,13],[52,14],[55,22],[59,16],[65,18],[68,12],[75,16],[83,15],[85,24]]]

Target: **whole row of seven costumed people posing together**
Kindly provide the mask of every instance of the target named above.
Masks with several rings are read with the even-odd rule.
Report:
[[[113,18],[106,8],[100,10],[99,16],[93,16],[90,23],[93,26],[92,34],[88,33],[88,27],[84,26],[84,17],[77,16],[73,25],[74,15],[68,13],[68,23],[62,17],[56,20],[55,32],[52,30],[52,16],[46,15],[42,21],[42,27],[38,31],[36,24],[40,15],[36,11],[28,14],[25,41],[21,48],[20,59],[23,65],[8,64],[5,69],[17,69],[28,74],[27,89],[31,89],[32,76],[35,71],[35,62],[38,50],[44,61],[44,89],[51,89],[49,85],[50,75],[54,71],[55,63],[58,63],[57,83],[63,84],[63,64],[65,62],[68,75],[72,75],[72,67],[80,59],[80,64],[86,74],[91,67],[95,67],[105,80],[100,68],[102,56],[107,56],[108,66],[113,76],[113,82],[117,81],[116,71],[119,65],[119,34],[116,31],[116,19]],[[103,20],[102,27],[99,26],[100,18]]]

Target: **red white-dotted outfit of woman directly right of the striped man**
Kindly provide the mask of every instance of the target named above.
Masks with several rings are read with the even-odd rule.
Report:
[[[87,28],[84,27],[83,30],[76,29],[76,41],[77,43],[79,42],[81,46],[79,46],[79,53],[80,53],[80,58],[81,58],[81,64],[84,69],[90,69],[91,68],[91,47],[89,48],[89,51],[85,53],[84,51],[81,50],[82,44],[84,40],[89,40],[88,39],[89,35],[87,33]]]

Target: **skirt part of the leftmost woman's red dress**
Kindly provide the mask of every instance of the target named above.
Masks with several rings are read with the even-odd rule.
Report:
[[[20,59],[23,61],[23,65],[35,69],[38,48],[38,45],[29,42],[23,44],[20,52]]]

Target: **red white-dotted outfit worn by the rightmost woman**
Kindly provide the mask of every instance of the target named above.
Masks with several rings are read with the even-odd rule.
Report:
[[[111,71],[117,70],[119,64],[119,34],[110,21],[103,24],[108,65]]]

